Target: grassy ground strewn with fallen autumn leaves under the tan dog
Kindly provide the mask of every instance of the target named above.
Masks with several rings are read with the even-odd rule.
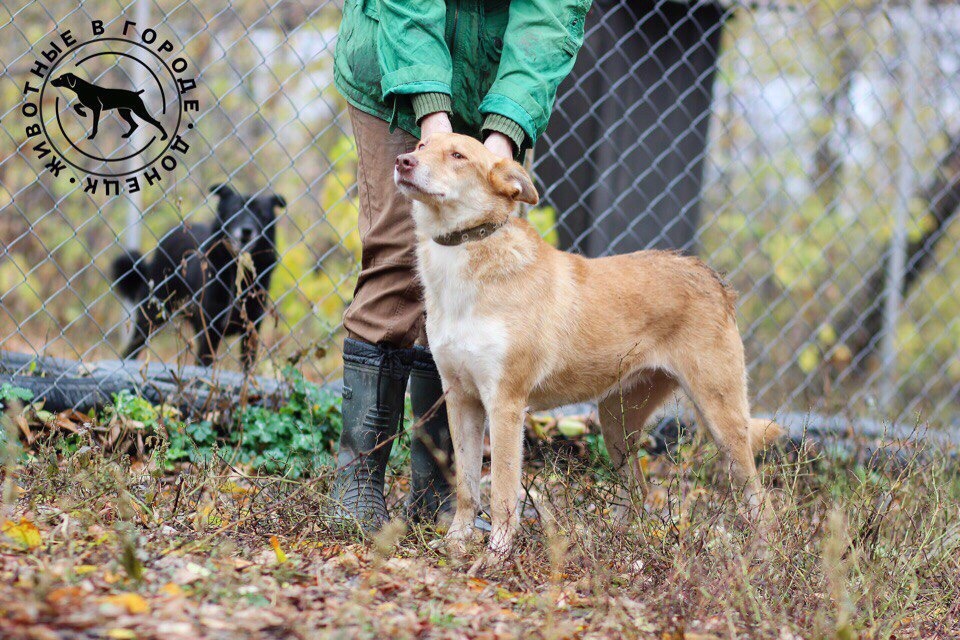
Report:
[[[651,490],[621,529],[589,425],[534,422],[562,446],[528,465],[515,562],[470,578],[434,529],[331,529],[329,467],[254,475],[216,446],[171,464],[149,437],[106,447],[95,420],[42,416],[69,423],[42,431],[23,415],[5,419],[0,475],[4,639],[960,635],[952,451],[778,456],[764,474],[780,522],[761,538],[693,441],[645,461]],[[399,515],[403,474],[391,486]]]

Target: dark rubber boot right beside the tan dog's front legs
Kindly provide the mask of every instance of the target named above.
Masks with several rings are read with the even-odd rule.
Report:
[[[414,349],[410,406],[417,424],[440,400],[443,385],[430,351],[420,346]],[[438,513],[454,507],[449,481],[452,476],[453,442],[447,424],[447,407],[441,404],[410,434],[408,517],[411,522],[433,522]]]

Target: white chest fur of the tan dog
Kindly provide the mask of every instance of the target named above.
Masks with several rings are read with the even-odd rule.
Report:
[[[500,319],[480,313],[467,250],[430,243],[421,246],[419,259],[427,336],[445,383],[490,397],[503,375],[508,336]]]

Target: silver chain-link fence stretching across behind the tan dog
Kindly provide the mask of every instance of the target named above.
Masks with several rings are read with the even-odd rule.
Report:
[[[309,0],[5,3],[0,350],[118,358],[130,310],[111,262],[209,222],[210,186],[230,183],[286,201],[257,373],[297,359],[313,380],[338,377],[360,248],[356,150],[333,87],[340,14]],[[196,80],[184,94],[198,103],[193,128],[180,128],[189,151],[136,191],[55,175],[29,136],[35,63],[94,21],[105,36],[135,22],[127,35],[141,44],[153,30]],[[107,85],[150,85],[149,65],[101,62]],[[762,410],[954,422],[958,69],[950,2],[596,0],[535,149],[543,197],[530,218],[569,250],[681,249],[725,272]],[[68,94],[55,94],[40,105],[46,126],[89,126],[60,122]],[[121,133],[115,114],[100,127]],[[140,124],[131,143],[156,134]],[[194,364],[191,336],[168,323],[141,360]],[[239,370],[239,340],[226,342],[218,366]]]

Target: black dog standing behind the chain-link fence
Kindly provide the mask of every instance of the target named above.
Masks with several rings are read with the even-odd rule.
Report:
[[[136,305],[124,359],[135,358],[150,334],[183,309],[196,334],[201,364],[210,366],[223,337],[236,334],[243,335],[244,369],[254,364],[278,260],[274,209],[286,202],[276,194],[240,195],[229,185],[216,185],[210,192],[220,200],[211,225],[172,229],[149,262],[139,252],[114,260],[117,290]]]

